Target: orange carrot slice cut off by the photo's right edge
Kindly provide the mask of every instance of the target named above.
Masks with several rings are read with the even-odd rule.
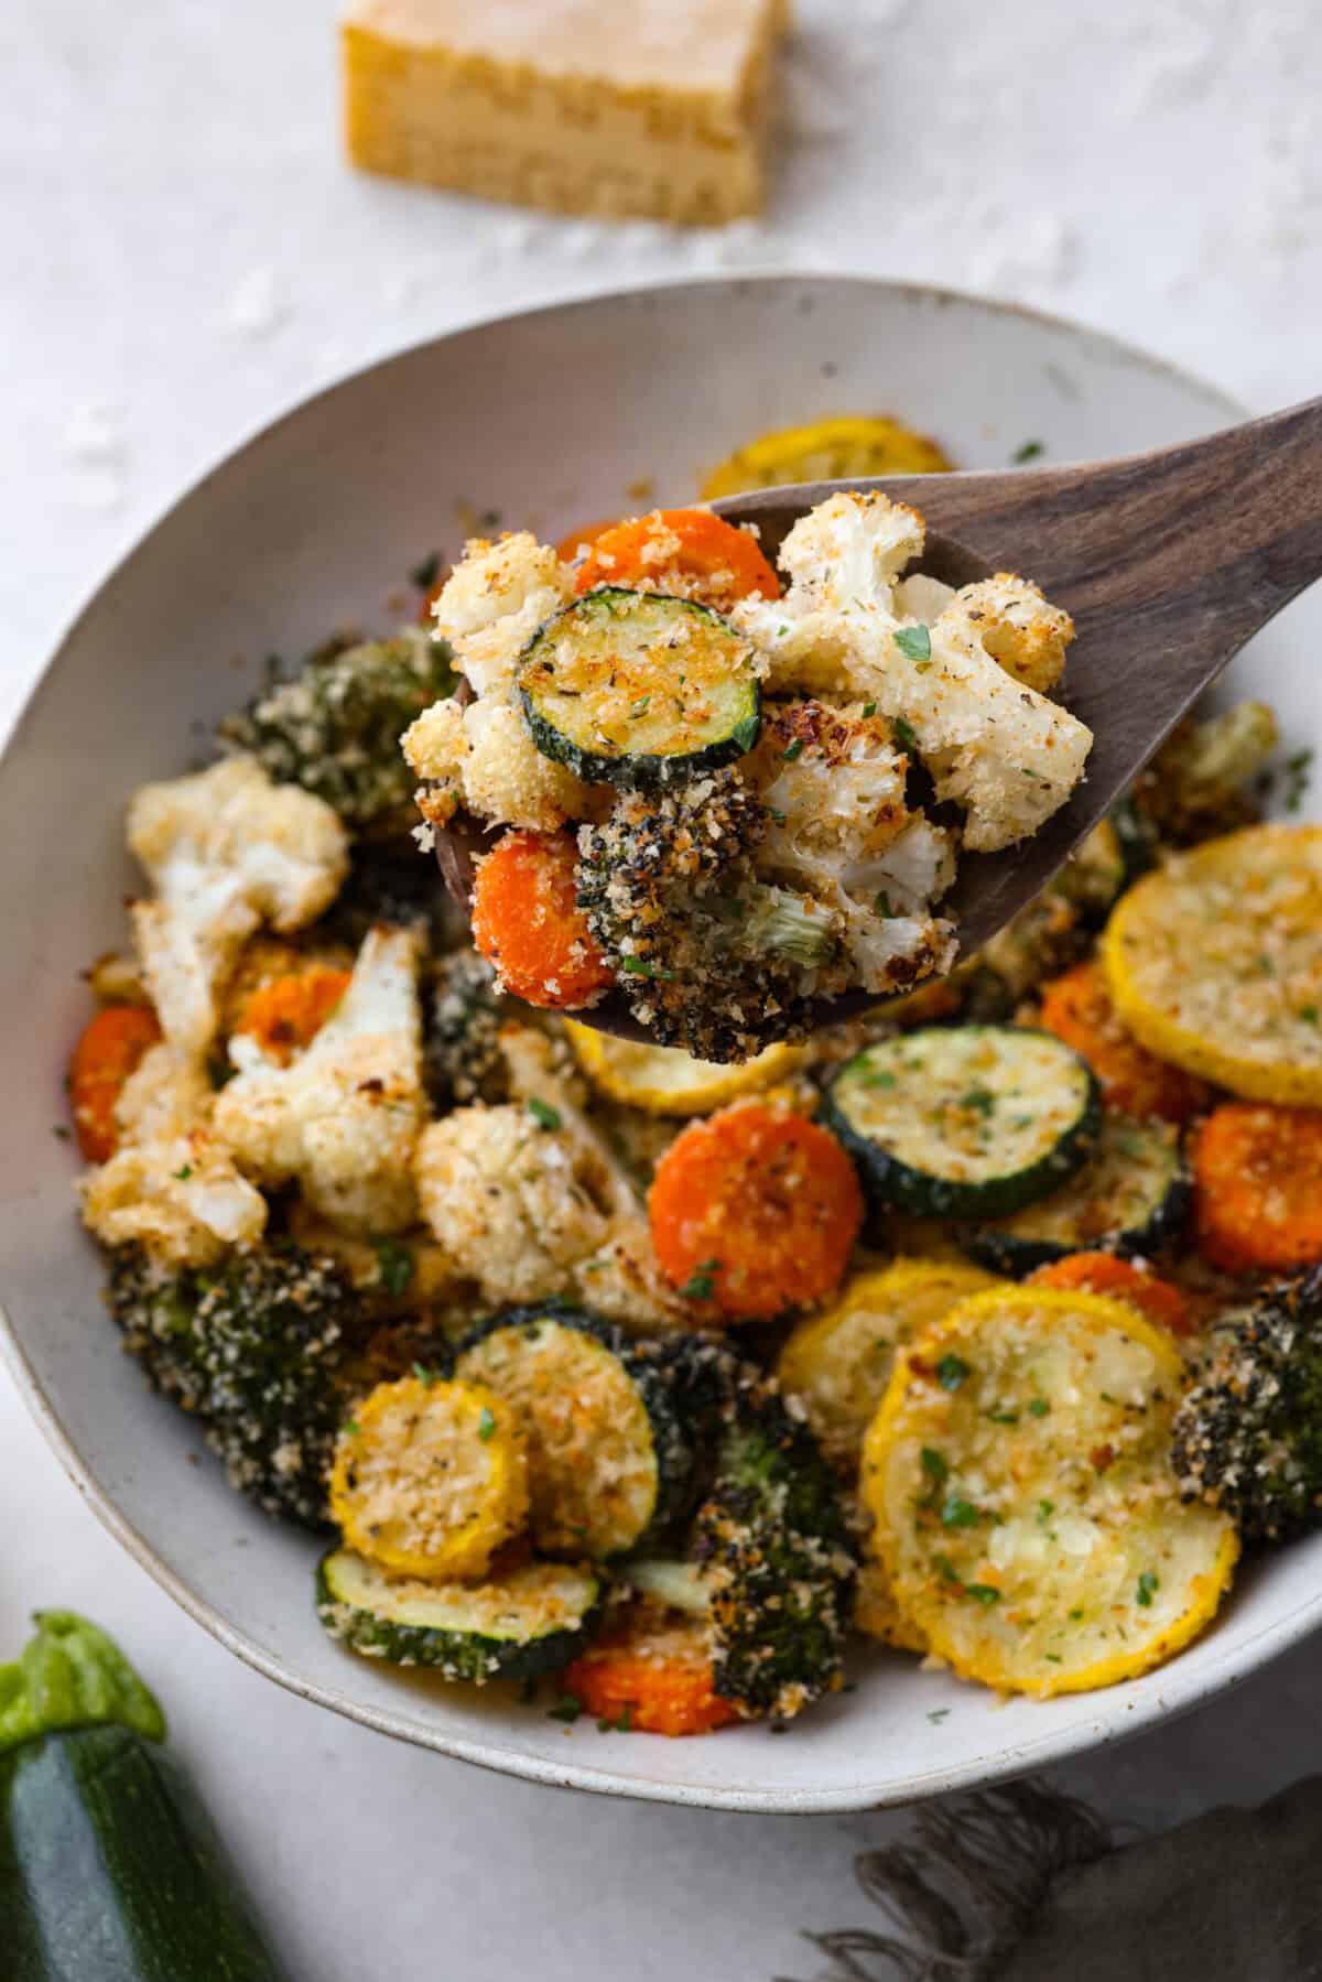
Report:
[[[1322,1108],[1227,1102],[1193,1150],[1197,1243],[1253,1272],[1322,1259]]]

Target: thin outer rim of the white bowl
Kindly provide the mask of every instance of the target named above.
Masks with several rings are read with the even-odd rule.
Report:
[[[1177,365],[1171,359],[1159,357],[1142,345],[1130,343],[1124,337],[1116,337],[1110,331],[1096,329],[1078,319],[1066,317],[1056,311],[1037,309],[1025,303],[1003,301],[997,297],[985,297],[971,289],[959,289],[945,283],[928,281],[906,281],[892,279],[886,275],[868,275],[856,272],[834,272],[821,268],[787,268],[787,270],[749,270],[737,274],[710,274],[698,277],[684,277],[680,281],[670,277],[656,277],[636,283],[583,289],[573,287],[559,295],[541,297],[535,303],[519,309],[503,309],[497,313],[476,313],[464,317],[462,321],[450,325],[448,329],[436,333],[434,337],[414,339],[402,343],[367,365],[353,367],[341,373],[327,385],[319,386],[295,402],[287,404],[274,418],[262,420],[242,434],[234,448],[226,450],[214,458],[206,468],[202,468],[184,488],[161,505],[145,527],[139,531],[129,549],[117,557],[101,577],[91,585],[89,593],[75,606],[67,618],[61,634],[57,636],[54,648],[50,650],[46,662],[36,674],[32,686],[28,688],[22,704],[12,719],[10,731],[0,749],[0,773],[8,765],[12,753],[24,741],[36,710],[42,698],[54,692],[54,676],[57,664],[81,630],[89,614],[103,603],[105,593],[135,565],[135,561],[147,555],[151,539],[157,531],[172,517],[184,503],[194,496],[200,496],[208,484],[222,472],[232,470],[242,462],[246,454],[268,442],[274,434],[285,428],[289,422],[301,418],[309,408],[321,404],[331,394],[339,392],[343,386],[369,379],[375,373],[396,365],[400,359],[428,351],[436,345],[444,345],[460,335],[474,329],[490,329],[496,325],[537,319],[545,315],[567,315],[573,311],[593,311],[601,305],[610,303],[630,303],[646,295],[684,295],[694,291],[747,291],[753,287],[793,287],[793,285],[826,285],[826,287],[856,287],[882,291],[886,295],[900,295],[910,301],[924,301],[936,305],[955,305],[973,309],[981,315],[1023,319],[1041,325],[1050,331],[1064,333],[1072,341],[1090,343],[1094,349],[1106,351],[1108,355],[1122,359],[1126,365],[1140,367],[1150,375],[1167,379],[1169,383],[1195,390],[1209,408],[1225,412],[1227,422],[1243,418],[1245,406],[1221,386],[1203,379],[1201,375]],[[507,1748],[496,1746],[486,1738],[470,1738],[464,1734],[452,1734],[440,1728],[430,1728],[426,1722],[410,1718],[402,1712],[392,1712],[386,1708],[377,1708],[351,1699],[345,1691],[321,1683],[307,1681],[297,1673],[285,1659],[268,1651],[250,1639],[244,1631],[228,1621],[228,1617],[218,1611],[212,1603],[200,1597],[153,1548],[153,1544],[139,1532],[139,1528],[127,1518],[119,1508],[111,1492],[101,1485],[91,1465],[73,1445],[71,1437],[65,1433],[63,1423],[36,1374],[36,1368],[28,1360],[18,1334],[10,1322],[10,1316],[0,1304],[0,1362],[8,1368],[18,1395],[24,1399],[30,1415],[46,1437],[48,1445],[55,1453],[55,1459],[63,1467],[65,1475],[87,1502],[91,1512],[103,1524],[103,1528],[125,1548],[125,1552],[153,1578],[153,1582],[165,1590],[166,1596],[178,1603],[178,1607],[202,1625],[220,1645],[226,1647],[236,1659],[254,1671],[272,1679],[275,1685],[293,1693],[315,1707],[325,1707],[331,1712],[343,1714],[349,1720],[357,1720],[392,1740],[402,1740],[412,1746],[430,1748],[438,1754],[452,1756],[454,1760],[472,1762],[478,1768],[486,1768],[499,1776],[513,1776],[523,1782],[537,1782],[551,1788],[565,1790],[589,1790],[603,1796],[622,1796],[636,1802],[654,1804],[676,1804],[688,1808],[706,1810],[729,1810],[747,1814],[769,1814],[769,1816],[791,1816],[791,1814],[848,1814],[856,1810],[874,1810],[922,1802],[930,1796],[943,1796],[957,1790],[969,1790],[979,1786],[991,1786],[1005,1782],[1013,1776],[1025,1774],[1033,1768],[1043,1768],[1047,1764],[1062,1762],[1068,1756],[1110,1746],[1116,1740],[1124,1740],[1130,1734],[1152,1726],[1156,1720],[1169,1720],[1177,1714],[1191,1712],[1195,1707],[1211,1703],[1219,1695],[1231,1691],[1249,1679],[1261,1665],[1270,1657],[1276,1657],[1296,1645],[1306,1637],[1318,1623],[1322,1623],[1322,1590],[1304,1599],[1298,1607],[1286,1611],[1284,1617],[1276,1617],[1265,1623],[1253,1637],[1227,1649],[1219,1659],[1213,1657],[1211,1669],[1203,1667],[1195,1677],[1179,1681],[1179,1667],[1169,1669],[1171,1683],[1165,1693],[1154,1691],[1148,1701],[1130,1703],[1124,1716],[1116,1712],[1100,1712],[1092,1720],[1080,1720],[1064,1730],[1045,1728],[1041,1736],[1021,1738],[1007,1748],[1001,1748],[995,1758],[979,1760],[977,1756],[965,1762],[945,1762],[934,1768],[910,1772],[904,1778],[888,1782],[884,1786],[840,1786],[840,1788],[747,1788],[737,1782],[729,1786],[716,1784],[686,1784],[686,1782],[648,1782],[644,1778],[622,1776],[612,1768],[601,1768],[565,1758],[565,1762],[553,1762],[543,1756],[519,1754]],[[1270,1651],[1265,1655],[1255,1655],[1263,1639],[1270,1639]],[[1213,1641],[1215,1643],[1215,1641]]]

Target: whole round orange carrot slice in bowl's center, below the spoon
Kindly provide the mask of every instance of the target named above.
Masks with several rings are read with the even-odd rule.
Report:
[[[825,1128],[739,1102],[676,1136],[648,1197],[666,1276],[731,1318],[821,1300],[848,1265],[862,1191]]]

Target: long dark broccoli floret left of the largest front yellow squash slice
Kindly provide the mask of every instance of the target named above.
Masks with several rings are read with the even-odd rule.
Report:
[[[636,1564],[632,1582],[706,1617],[716,1693],[789,1720],[842,1679],[856,1560],[838,1481],[753,1364],[704,1336],[658,1354],[712,1471],[688,1560]]]

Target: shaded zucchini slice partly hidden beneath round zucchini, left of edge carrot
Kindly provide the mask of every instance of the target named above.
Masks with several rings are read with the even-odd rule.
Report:
[[[1181,1233],[1191,1197],[1177,1126],[1108,1114],[1078,1175],[1015,1217],[961,1233],[961,1245],[1015,1278],[1066,1253],[1159,1253]]]

